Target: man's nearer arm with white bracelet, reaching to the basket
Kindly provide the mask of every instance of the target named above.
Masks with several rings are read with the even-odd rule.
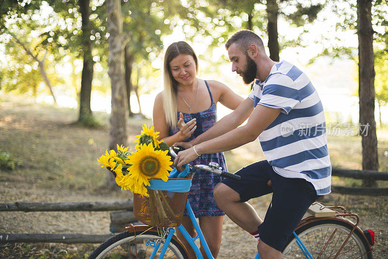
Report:
[[[199,155],[228,151],[254,141],[279,115],[281,109],[274,109],[263,105],[257,105],[248,122],[226,134],[195,145],[195,151]],[[182,166],[190,163],[198,156],[194,148],[178,153],[174,166],[182,170]]]

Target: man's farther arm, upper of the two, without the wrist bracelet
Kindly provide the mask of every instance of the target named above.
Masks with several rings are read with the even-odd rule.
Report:
[[[216,138],[225,134],[226,132],[231,131],[232,129],[237,128],[244,122],[253,110],[253,101],[249,98],[246,98],[242,103],[230,114],[226,115],[216,124],[214,124],[210,129],[194,138],[190,142],[180,142],[177,145],[181,145],[185,148],[190,148],[194,145],[197,145],[206,140]]]

